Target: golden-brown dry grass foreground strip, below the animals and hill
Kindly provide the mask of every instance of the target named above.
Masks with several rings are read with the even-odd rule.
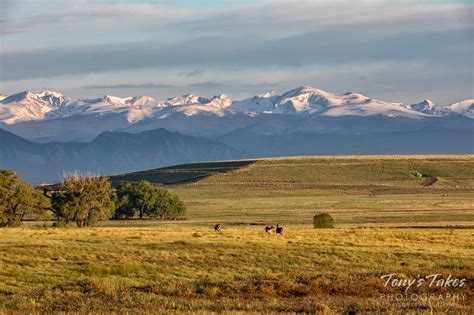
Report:
[[[22,312],[429,311],[381,298],[381,275],[441,273],[472,281],[472,230],[261,227],[0,230],[0,310]],[[472,289],[433,302],[468,312]],[[411,292],[411,291],[410,291]]]

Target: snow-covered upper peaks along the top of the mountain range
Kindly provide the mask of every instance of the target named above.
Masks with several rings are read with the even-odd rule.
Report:
[[[473,100],[447,107],[430,100],[406,105],[379,101],[347,92],[330,93],[310,86],[302,86],[282,95],[267,92],[241,101],[227,95],[206,98],[194,94],[159,101],[148,96],[117,97],[105,95],[96,99],[72,100],[54,91],[33,93],[25,91],[0,97],[0,122],[15,124],[31,120],[53,120],[75,115],[123,115],[132,124],[145,118],[166,118],[171,115],[213,115],[222,117],[236,112],[246,115],[284,113],[321,116],[440,117],[457,113],[474,118]]]

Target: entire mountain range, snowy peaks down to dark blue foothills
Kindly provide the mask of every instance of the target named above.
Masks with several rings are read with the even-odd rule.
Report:
[[[240,101],[26,91],[0,96],[0,129],[0,168],[40,182],[204,160],[474,153],[474,100],[391,103],[308,86]]]

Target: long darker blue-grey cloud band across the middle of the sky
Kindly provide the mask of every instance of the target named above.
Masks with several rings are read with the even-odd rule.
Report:
[[[251,69],[268,66],[431,62],[462,66],[474,53],[469,34],[458,30],[401,33],[367,38],[365,27],[335,28],[285,39],[239,41],[203,38],[175,45],[142,42],[37,49],[0,54],[2,80],[139,68]],[[219,43],[219,45],[216,45]],[[453,58],[453,55],[456,58]]]

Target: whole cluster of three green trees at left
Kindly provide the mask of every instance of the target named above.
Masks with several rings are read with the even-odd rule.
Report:
[[[52,191],[21,182],[12,171],[0,171],[0,225],[19,225],[25,216],[54,215],[58,224],[88,227],[101,220],[183,215],[178,196],[149,182],[113,189],[107,177],[70,175]]]

